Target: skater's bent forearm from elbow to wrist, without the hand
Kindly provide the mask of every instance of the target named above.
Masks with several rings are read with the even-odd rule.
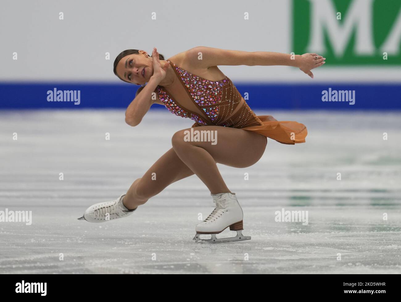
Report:
[[[126,123],[134,127],[138,125],[150,106],[155,102],[152,100],[152,93],[156,90],[160,81],[150,78],[148,84],[144,88],[140,87],[135,95],[134,100],[126,110]]]

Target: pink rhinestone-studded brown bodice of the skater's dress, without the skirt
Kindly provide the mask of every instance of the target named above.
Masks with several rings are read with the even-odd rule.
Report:
[[[170,64],[188,94],[187,98],[190,99],[188,102],[196,104],[196,110],[191,111],[183,106],[183,100],[180,99],[178,104],[178,101],[169,95],[164,87],[157,86],[159,99],[172,113],[194,120],[196,126],[217,125],[242,128],[261,124],[229,78],[225,77],[220,81],[206,80],[174,63],[170,62]],[[241,100],[242,106],[237,108]]]

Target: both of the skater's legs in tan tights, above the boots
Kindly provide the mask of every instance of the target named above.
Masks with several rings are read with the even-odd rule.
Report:
[[[184,129],[172,137],[173,148],[138,178],[128,190],[123,203],[128,209],[144,204],[178,180],[196,174],[212,194],[230,192],[216,163],[231,167],[249,167],[265,151],[267,139],[259,133],[219,126],[196,127],[196,130],[217,131],[217,144],[211,142],[186,142]],[[194,129],[195,130],[195,129]],[[156,180],[152,180],[156,173]]]

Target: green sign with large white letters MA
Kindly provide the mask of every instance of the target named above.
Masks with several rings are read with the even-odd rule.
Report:
[[[296,54],[318,53],[329,65],[401,65],[401,0],[292,4]]]

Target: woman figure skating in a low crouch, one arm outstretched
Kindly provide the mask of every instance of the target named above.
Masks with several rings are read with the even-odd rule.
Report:
[[[196,226],[194,240],[213,243],[250,239],[241,234],[241,206],[235,193],[227,188],[216,163],[249,167],[263,155],[267,137],[294,145],[305,142],[307,130],[298,122],[257,116],[217,65],[295,66],[313,78],[311,70],[322,66],[324,60],[316,53],[288,55],[195,47],[166,61],[156,48],[151,57],[143,50],[123,51],[114,61],[115,75],[124,82],[142,84],[126,110],[127,124],[138,125],[152,104],[161,104],[176,115],[194,120],[192,131],[195,128],[201,135],[218,135],[218,143],[186,139],[191,129],[176,132],[172,148],[142,178],[135,180],[126,194],[90,206],[79,219],[105,222],[126,217],[168,185],[196,174],[210,190],[216,207]],[[237,231],[237,236],[217,239],[215,234],[227,227]],[[211,234],[212,238],[200,239],[200,234]]]

